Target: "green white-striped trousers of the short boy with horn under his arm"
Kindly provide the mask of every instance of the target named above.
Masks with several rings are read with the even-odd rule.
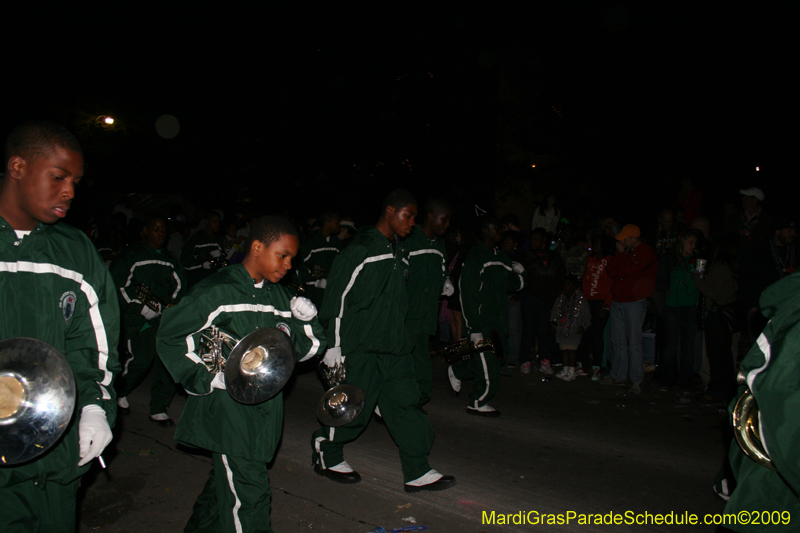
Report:
[[[214,466],[197,497],[186,533],[272,533],[267,464],[212,454]]]

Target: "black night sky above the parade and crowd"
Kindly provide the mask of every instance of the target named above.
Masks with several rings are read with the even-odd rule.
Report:
[[[708,202],[789,181],[789,8],[551,4],[9,13],[2,129],[78,130],[95,192],[202,202],[213,182],[265,210],[357,209],[352,191],[398,184],[466,201],[515,180],[630,210],[686,176]]]

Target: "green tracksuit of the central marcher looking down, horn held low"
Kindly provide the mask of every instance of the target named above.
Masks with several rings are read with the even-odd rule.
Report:
[[[312,437],[313,461],[323,469],[344,461],[344,444],[367,427],[375,405],[400,449],[404,481],[431,470],[433,427],[419,408],[419,387],[405,326],[408,254],[403,243],[377,228],[362,229],[333,263],[320,321],[328,347],[345,358],[344,383],[366,395],[364,410],[349,424],[323,426]]]

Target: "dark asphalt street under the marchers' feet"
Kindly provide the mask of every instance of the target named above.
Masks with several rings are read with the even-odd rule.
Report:
[[[539,372],[508,373],[492,402],[500,418],[465,412],[453,397],[443,362],[434,362],[434,395],[426,406],[436,430],[433,468],[456,476],[446,491],[407,494],[397,447],[386,426],[374,420],[345,447],[345,458],[362,475],[341,485],[311,467],[311,433],[324,392],[308,363],[298,365],[284,389],[281,446],[270,468],[275,531],[366,533],[412,525],[431,533],[532,531],[715,531],[715,526],[515,525],[514,514],[535,521],[543,514],[644,513],[681,520],[694,513],[720,513],[712,491],[726,450],[725,418],[718,406],[681,403],[675,392],[647,383],[640,396],[588,377],[567,383]],[[133,413],[120,416],[115,440],[104,452],[107,469],[95,465],[84,478],[82,533],[182,531],[211,465],[210,456],[178,445],[174,428],[147,417],[149,381],[129,397]],[[185,404],[170,409],[176,420]],[[494,522],[492,523],[492,512]],[[498,523],[504,515],[511,524]],[[509,516],[512,515],[512,516]]]

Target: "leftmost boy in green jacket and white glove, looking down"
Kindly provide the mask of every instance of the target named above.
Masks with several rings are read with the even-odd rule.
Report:
[[[0,188],[0,340],[32,337],[56,348],[72,369],[77,398],[57,444],[23,464],[0,462],[0,531],[75,531],[80,478],[111,442],[119,305],[91,241],[60,222],[82,175],[83,152],[63,126],[28,122],[8,136]]]

